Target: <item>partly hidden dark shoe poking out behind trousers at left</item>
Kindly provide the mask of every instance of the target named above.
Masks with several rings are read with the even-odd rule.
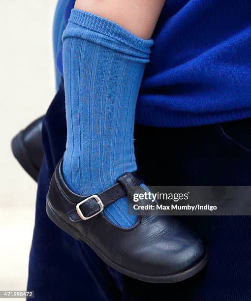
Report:
[[[37,181],[44,152],[42,147],[43,116],[20,131],[11,141],[11,149],[24,170]]]

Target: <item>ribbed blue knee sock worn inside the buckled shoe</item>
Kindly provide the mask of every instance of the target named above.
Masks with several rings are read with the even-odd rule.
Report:
[[[137,169],[134,114],[152,40],[94,14],[73,9],[63,33],[67,142],[63,176],[81,195],[97,194]],[[121,198],[104,211],[121,227],[137,217]]]

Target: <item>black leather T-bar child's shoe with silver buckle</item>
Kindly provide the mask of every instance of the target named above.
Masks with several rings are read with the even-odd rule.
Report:
[[[62,161],[61,161],[62,162]],[[103,210],[122,196],[144,193],[132,174],[90,197],[73,193],[63,180],[61,162],[47,194],[49,218],[73,238],[87,243],[109,266],[127,276],[154,283],[185,280],[202,270],[207,253],[186,225],[172,216],[139,216],[129,229],[108,221]],[[146,204],[141,201],[141,205]]]

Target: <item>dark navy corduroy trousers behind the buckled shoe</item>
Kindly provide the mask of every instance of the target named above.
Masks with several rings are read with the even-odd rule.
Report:
[[[149,185],[251,185],[251,121],[187,127],[136,125],[135,151]],[[249,301],[251,217],[182,217],[209,248],[209,263],[175,284],[150,284],[108,267],[46,215],[51,176],[65,149],[63,87],[43,121],[45,157],[38,181],[28,289],[36,301]],[[116,243],[116,241],[115,241]]]

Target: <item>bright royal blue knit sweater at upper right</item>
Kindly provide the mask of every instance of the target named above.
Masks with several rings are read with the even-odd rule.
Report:
[[[136,122],[179,127],[251,117],[251,0],[168,0],[153,38]]]

